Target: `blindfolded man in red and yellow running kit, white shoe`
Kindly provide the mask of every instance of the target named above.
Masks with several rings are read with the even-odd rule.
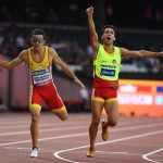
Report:
[[[85,88],[84,84],[75,76],[71,68],[60,59],[53,48],[45,46],[46,33],[42,29],[35,29],[32,33],[32,48],[23,50],[20,55],[11,62],[0,60],[0,66],[11,70],[23,62],[28,64],[30,72],[29,110],[32,114],[30,134],[33,139],[33,151],[30,156],[38,155],[38,123],[42,100],[49,109],[62,121],[67,118],[67,111],[61,100],[52,79],[52,63],[62,67],[76,84]]]

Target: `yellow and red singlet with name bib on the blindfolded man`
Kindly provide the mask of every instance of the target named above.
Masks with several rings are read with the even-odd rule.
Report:
[[[32,55],[32,49],[28,50],[28,68],[30,73],[30,83],[33,86],[45,86],[53,84],[52,67],[49,63],[48,47],[45,50],[45,57],[41,62],[36,62]]]

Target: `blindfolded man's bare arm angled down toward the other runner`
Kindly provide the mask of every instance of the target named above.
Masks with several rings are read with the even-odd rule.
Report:
[[[53,60],[52,60],[53,63],[60,65],[62,67],[62,70],[74,79],[74,82],[76,84],[80,85],[82,88],[86,88],[84,86],[84,84],[75,76],[75,74],[72,72],[72,70],[59,58],[57,51],[52,48],[49,48],[49,50],[53,57]]]

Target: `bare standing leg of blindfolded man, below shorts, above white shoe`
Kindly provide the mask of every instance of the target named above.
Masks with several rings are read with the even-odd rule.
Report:
[[[32,134],[33,147],[37,147],[40,110],[33,108],[30,109],[30,114],[32,114],[30,134]]]

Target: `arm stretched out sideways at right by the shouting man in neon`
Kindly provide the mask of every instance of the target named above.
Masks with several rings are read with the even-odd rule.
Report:
[[[147,50],[127,50],[125,48],[121,48],[121,54],[122,57],[129,57],[129,58],[150,58],[150,57],[163,57],[163,52],[152,52]]]

